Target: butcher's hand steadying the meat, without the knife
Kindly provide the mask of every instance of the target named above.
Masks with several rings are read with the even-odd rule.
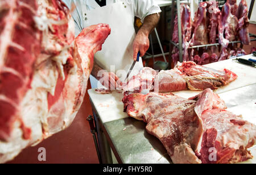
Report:
[[[107,87],[109,90],[118,89],[122,84],[119,78],[113,72],[102,72],[100,82],[103,86]]]

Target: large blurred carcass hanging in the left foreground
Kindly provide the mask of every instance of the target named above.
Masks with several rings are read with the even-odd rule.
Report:
[[[107,24],[75,25],[59,0],[1,1],[0,163],[67,128],[83,101]]]

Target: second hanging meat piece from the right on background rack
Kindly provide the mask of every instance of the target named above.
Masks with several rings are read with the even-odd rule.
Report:
[[[229,3],[222,7],[221,18],[218,24],[219,43],[223,48],[228,47],[229,41],[236,40],[238,19],[231,12]]]

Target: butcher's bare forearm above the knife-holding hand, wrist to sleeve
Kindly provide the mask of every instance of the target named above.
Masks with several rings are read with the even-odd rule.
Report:
[[[144,23],[142,27],[139,29],[138,33],[143,32],[144,35],[149,36],[150,33],[154,30],[154,28],[158,24],[159,19],[160,19],[159,13],[146,16],[146,18],[144,19]]]

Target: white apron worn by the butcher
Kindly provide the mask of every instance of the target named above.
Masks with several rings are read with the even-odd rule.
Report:
[[[87,10],[82,5],[84,27],[98,23],[109,24],[111,34],[102,45],[102,51],[94,55],[94,61],[108,72],[114,72],[124,81],[131,64],[133,64],[134,29],[133,5],[128,2],[117,2],[101,8]],[[142,59],[135,64],[130,76],[138,74],[143,67]],[[92,88],[103,86],[96,78],[90,76]]]

